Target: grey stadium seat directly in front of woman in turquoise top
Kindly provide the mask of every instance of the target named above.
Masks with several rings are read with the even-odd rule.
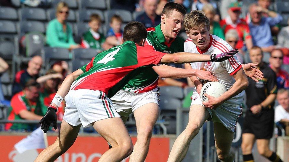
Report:
[[[46,65],[46,70],[55,62],[55,61],[68,61],[68,65],[71,65],[71,56],[68,49],[66,48],[52,48],[44,47],[42,49],[42,56],[44,57],[44,65]],[[54,62],[53,62],[54,61]]]

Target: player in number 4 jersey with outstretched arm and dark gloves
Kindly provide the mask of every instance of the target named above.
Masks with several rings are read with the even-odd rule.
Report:
[[[65,153],[76,140],[81,125],[94,129],[112,146],[99,161],[121,161],[132,153],[129,133],[111,100],[132,77],[143,68],[159,63],[187,63],[223,61],[237,50],[219,55],[195,53],[166,54],[143,47],[147,31],[140,22],[130,22],[123,32],[123,44],[99,53],[91,62],[69,74],[54,96],[44,117],[41,129],[46,133],[51,123],[56,129],[57,107],[65,97],[65,113],[56,141],[44,149],[36,161],[54,161]],[[149,55],[148,55],[149,54]]]

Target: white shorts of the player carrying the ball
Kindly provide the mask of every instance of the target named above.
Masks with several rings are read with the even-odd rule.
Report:
[[[194,104],[203,105],[201,97],[196,91],[193,92],[191,106]],[[209,120],[213,120],[214,123],[222,123],[229,131],[235,132],[237,120],[242,115],[242,106],[228,107],[220,105],[216,110],[206,109],[211,115],[211,119]]]

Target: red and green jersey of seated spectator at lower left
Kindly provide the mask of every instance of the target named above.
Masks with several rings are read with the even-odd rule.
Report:
[[[21,110],[28,110],[34,112],[37,115],[43,116],[39,102],[33,102],[28,100],[23,91],[15,94],[11,99],[11,106],[8,109],[8,120],[22,120],[19,113]],[[5,130],[27,130],[31,131],[35,129],[37,125],[23,124],[23,123],[7,123]]]

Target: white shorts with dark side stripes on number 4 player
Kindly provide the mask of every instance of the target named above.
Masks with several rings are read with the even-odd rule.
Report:
[[[65,96],[63,120],[70,125],[90,127],[91,123],[111,117],[120,117],[102,91],[91,89],[69,90]]]

